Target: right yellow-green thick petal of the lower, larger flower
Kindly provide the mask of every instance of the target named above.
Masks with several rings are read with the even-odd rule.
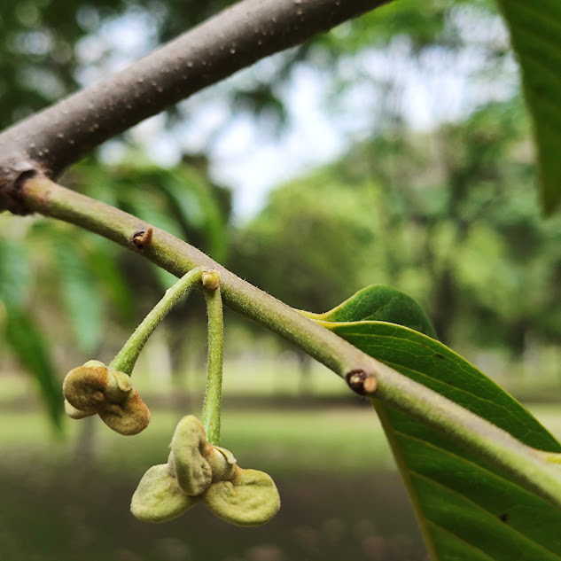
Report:
[[[280,508],[277,486],[267,473],[237,468],[230,481],[213,483],[202,496],[214,514],[236,526],[259,526]]]

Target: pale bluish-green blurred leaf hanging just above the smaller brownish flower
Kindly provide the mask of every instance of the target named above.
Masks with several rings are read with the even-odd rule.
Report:
[[[85,353],[97,347],[103,323],[103,300],[97,287],[97,272],[74,243],[62,232],[51,238],[66,312],[78,345]]]

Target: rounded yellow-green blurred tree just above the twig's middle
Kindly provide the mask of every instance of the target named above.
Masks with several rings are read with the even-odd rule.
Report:
[[[325,310],[362,286],[364,255],[379,253],[379,189],[342,188],[327,167],[273,191],[232,243],[231,266],[295,308]]]

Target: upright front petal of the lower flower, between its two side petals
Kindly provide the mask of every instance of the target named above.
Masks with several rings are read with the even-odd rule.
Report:
[[[205,427],[193,415],[179,421],[171,440],[175,477],[179,487],[187,495],[198,496],[205,492],[213,479],[213,472],[206,456],[212,446],[206,441]]]

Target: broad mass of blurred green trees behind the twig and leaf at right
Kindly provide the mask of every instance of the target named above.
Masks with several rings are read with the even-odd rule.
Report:
[[[376,136],[274,191],[232,267],[313,311],[393,284],[424,302],[440,338],[519,355],[529,332],[561,334],[561,220],[541,220],[531,160],[519,98],[432,133]]]

